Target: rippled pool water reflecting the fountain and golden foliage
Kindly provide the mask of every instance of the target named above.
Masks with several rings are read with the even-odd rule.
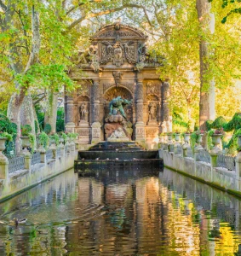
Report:
[[[0,255],[241,255],[239,215],[238,198],[168,169],[69,171],[0,204]]]

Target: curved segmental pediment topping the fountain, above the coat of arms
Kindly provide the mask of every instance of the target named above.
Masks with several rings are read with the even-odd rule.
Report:
[[[111,25],[102,26],[99,32],[95,33],[92,40],[102,40],[103,38],[143,38],[145,40],[147,36],[133,26],[123,25],[116,22]]]

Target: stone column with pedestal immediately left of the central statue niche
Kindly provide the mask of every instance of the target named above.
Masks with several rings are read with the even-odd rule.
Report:
[[[93,80],[92,85],[92,119],[93,123],[91,125],[91,143],[100,142],[100,81],[99,79]]]

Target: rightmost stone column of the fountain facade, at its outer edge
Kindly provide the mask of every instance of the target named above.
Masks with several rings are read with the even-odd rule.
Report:
[[[172,131],[172,116],[169,109],[169,82],[162,84],[161,132]]]

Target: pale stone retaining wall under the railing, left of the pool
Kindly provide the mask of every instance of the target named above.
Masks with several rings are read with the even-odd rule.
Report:
[[[46,160],[46,154],[44,155],[44,153],[42,153],[42,157],[43,161],[41,163],[30,164],[27,169],[13,173],[9,173],[8,165],[6,166],[6,172],[8,173],[4,176],[5,178],[0,179],[0,201],[4,201],[73,168],[74,160],[77,159],[77,151],[71,150],[65,153],[65,150],[61,150],[59,155],[55,153],[55,159],[50,160]]]

